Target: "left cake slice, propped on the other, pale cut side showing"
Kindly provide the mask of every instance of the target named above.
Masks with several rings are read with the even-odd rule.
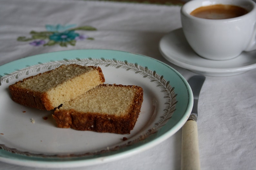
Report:
[[[104,82],[100,67],[70,64],[18,81],[9,91],[17,103],[52,110]]]

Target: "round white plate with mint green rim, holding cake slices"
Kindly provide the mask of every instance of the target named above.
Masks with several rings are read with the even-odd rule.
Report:
[[[8,86],[15,81],[70,63],[100,66],[106,83],[143,88],[141,113],[131,134],[57,128],[53,111],[28,108],[11,100]],[[46,53],[2,65],[0,75],[0,161],[17,165],[67,168],[131,156],[177,132],[193,105],[191,88],[177,71],[161,61],[129,52]],[[123,141],[123,137],[128,139]]]

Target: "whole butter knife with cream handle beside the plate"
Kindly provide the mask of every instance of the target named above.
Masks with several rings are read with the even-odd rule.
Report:
[[[201,75],[192,76],[188,83],[194,96],[194,105],[190,117],[182,127],[182,152],[181,169],[182,170],[200,170],[198,133],[197,133],[197,107],[200,90],[205,77]]]

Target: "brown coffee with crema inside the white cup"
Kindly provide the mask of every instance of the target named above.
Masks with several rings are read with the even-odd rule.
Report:
[[[205,19],[228,19],[247,14],[248,11],[240,6],[235,5],[209,5],[201,6],[190,14]]]

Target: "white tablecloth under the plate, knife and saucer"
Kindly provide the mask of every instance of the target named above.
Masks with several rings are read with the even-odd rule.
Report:
[[[46,52],[112,49],[163,61],[186,79],[195,75],[166,61],[160,39],[180,28],[180,6],[79,0],[1,0],[0,65]],[[59,24],[59,25],[58,25]],[[31,31],[79,30],[75,44],[29,40]],[[39,35],[38,35],[39,36]],[[47,44],[47,45],[45,45]],[[256,56],[255,56],[256,57]],[[256,71],[231,77],[207,77],[199,101],[198,135],[201,168],[256,169]],[[118,161],[80,169],[180,169],[181,130],[161,144]],[[41,169],[0,162],[0,169]],[[70,168],[71,169],[71,168]]]

